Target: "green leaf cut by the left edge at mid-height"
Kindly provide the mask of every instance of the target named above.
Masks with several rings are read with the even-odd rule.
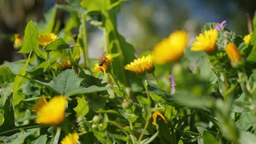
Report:
[[[4,82],[14,82],[15,75],[11,73],[11,70],[8,67],[0,67],[0,75],[0,85],[3,85]]]

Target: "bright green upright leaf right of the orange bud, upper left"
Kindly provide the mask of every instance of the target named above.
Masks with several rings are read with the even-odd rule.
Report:
[[[20,53],[30,53],[30,51],[37,51],[39,43],[37,40],[38,30],[34,26],[33,21],[27,23],[24,35],[24,45],[21,47]]]

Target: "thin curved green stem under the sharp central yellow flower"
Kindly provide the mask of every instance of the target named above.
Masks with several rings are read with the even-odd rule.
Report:
[[[149,91],[148,91],[147,82],[146,82],[145,79],[143,79],[142,82],[143,82],[143,85],[144,85],[144,87],[145,87],[145,89],[146,89],[147,98],[148,98],[148,100],[150,101],[150,95],[149,95]],[[151,104],[151,103],[150,103],[150,104]],[[148,106],[148,116],[147,116],[147,119],[146,119],[146,124],[145,124],[145,126],[144,126],[144,129],[142,130],[141,135],[139,136],[139,139],[138,139],[137,143],[141,142],[142,137],[143,137],[143,135],[145,134],[145,132],[146,132],[146,130],[147,130],[150,117],[151,117],[151,105]]]

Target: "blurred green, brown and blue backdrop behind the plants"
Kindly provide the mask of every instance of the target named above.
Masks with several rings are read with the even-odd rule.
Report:
[[[13,47],[13,34],[24,35],[26,23],[43,20],[43,14],[54,4],[65,4],[65,0],[1,0],[0,1],[0,64],[17,61],[22,55]],[[162,38],[177,29],[189,34],[189,45],[201,32],[206,22],[227,21],[227,27],[238,35],[248,34],[247,17],[253,17],[256,9],[253,0],[132,0],[122,4],[118,15],[120,34],[135,46],[138,54],[152,50]],[[61,27],[69,15],[57,11],[56,19]],[[100,57],[102,31],[88,23],[89,57]]]

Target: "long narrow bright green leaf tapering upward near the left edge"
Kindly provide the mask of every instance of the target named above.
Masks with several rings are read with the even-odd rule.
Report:
[[[27,58],[26,63],[23,65],[23,67],[20,69],[19,73],[16,75],[14,83],[13,83],[13,99],[14,99],[13,104],[14,104],[14,106],[18,105],[21,100],[25,99],[24,97],[22,97],[21,95],[18,94],[18,91],[21,88],[21,86],[26,82],[26,79],[22,76],[24,76],[26,74],[28,62],[30,62],[30,56],[31,56],[31,52]]]

